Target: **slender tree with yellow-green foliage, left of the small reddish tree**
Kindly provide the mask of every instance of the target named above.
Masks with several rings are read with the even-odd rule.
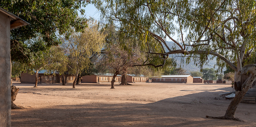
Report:
[[[90,57],[102,49],[104,38],[98,30],[98,25],[93,21],[83,33],[73,31],[68,39],[62,39],[61,48],[68,57],[72,74],[75,75],[73,88],[78,74],[90,66]]]

